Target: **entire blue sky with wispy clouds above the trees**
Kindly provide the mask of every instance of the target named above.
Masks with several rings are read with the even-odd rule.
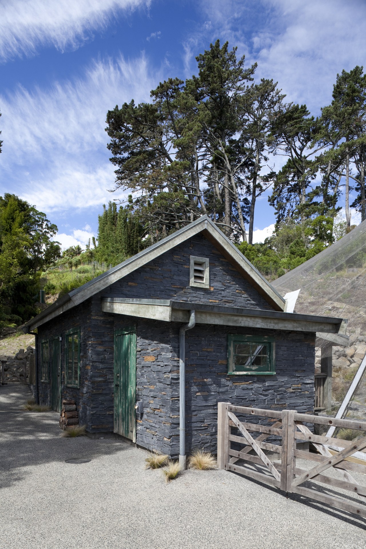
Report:
[[[103,203],[123,198],[108,190],[108,109],[191,76],[219,38],[317,115],[337,72],[365,65],[365,20],[364,0],[2,0],[0,194],[46,212],[63,247],[85,245]],[[273,222],[264,196],[257,239]]]

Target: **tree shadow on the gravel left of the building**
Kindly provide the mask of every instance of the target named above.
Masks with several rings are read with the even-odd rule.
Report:
[[[131,446],[119,438],[61,438],[58,412],[21,410],[27,393],[24,386],[0,388],[0,488],[11,486],[31,474],[27,468],[44,463],[63,463],[70,458],[98,457],[123,452]],[[14,396],[14,400],[10,397]],[[13,402],[12,406],[6,406]],[[5,406],[4,406],[5,405]]]

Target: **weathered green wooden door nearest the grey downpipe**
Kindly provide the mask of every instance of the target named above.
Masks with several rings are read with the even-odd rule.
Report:
[[[136,331],[114,334],[114,432],[136,442]]]

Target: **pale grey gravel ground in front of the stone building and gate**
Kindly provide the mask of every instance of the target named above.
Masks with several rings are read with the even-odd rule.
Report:
[[[165,484],[146,452],[113,438],[60,438],[56,412],[0,386],[0,547],[322,549],[364,546],[366,520],[222,470]],[[72,457],[91,462],[68,464]]]

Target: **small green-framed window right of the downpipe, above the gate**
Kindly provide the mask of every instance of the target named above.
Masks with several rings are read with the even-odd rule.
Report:
[[[228,373],[256,376],[275,374],[274,338],[229,335]]]

